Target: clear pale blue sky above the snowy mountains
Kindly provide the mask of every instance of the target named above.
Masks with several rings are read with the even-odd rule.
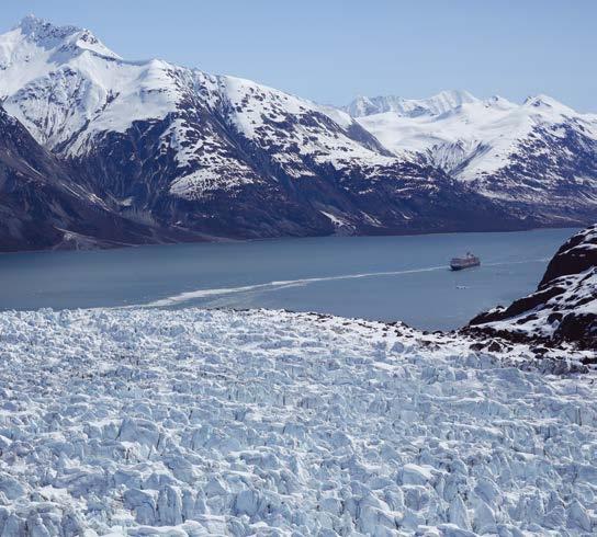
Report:
[[[595,0],[2,0],[0,31],[27,13],[324,103],[466,89],[597,112]]]

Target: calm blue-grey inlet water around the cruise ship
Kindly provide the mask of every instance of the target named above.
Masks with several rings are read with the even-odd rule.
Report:
[[[462,325],[534,289],[573,229],[330,237],[0,255],[0,309],[286,308]],[[482,266],[448,270],[472,251]]]

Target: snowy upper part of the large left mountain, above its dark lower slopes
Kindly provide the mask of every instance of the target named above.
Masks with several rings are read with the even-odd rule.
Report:
[[[181,197],[259,182],[259,173],[232,155],[229,140],[211,122],[195,124],[198,115],[222,115],[295,178],[316,175],[305,159],[337,169],[396,161],[351,139],[346,129],[356,124],[339,111],[249,80],[213,77],[157,59],[125,61],[87,30],[26,18],[0,36],[0,52],[5,75],[0,95],[7,111],[61,155],[81,158],[103,133],[176,117],[162,137],[177,152],[180,173],[170,192]]]

